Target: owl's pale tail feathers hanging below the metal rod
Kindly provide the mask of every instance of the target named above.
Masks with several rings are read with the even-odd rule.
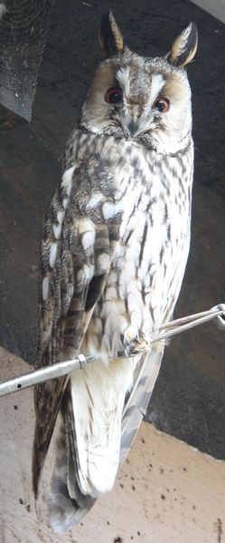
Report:
[[[111,364],[104,367],[99,363],[96,367],[90,364],[88,370],[91,367],[91,372],[85,371],[85,382],[93,402],[84,391],[83,375],[81,378],[79,372],[74,373],[64,402],[64,424],[57,438],[57,457],[48,496],[50,521],[55,531],[61,533],[79,523],[98,495],[112,488],[118,463],[125,459],[145,415],[163,352],[164,344],[155,344],[151,353],[143,354],[138,364],[134,358],[114,361],[111,363],[114,364],[113,373],[110,372]],[[133,375],[134,384],[124,404]],[[102,390],[105,390],[103,396],[100,395]],[[116,403],[117,409],[113,410]],[[86,412],[89,413],[89,419],[86,419],[89,428],[85,422]],[[92,430],[91,421],[96,425]],[[79,431],[82,433],[80,440],[77,438]]]

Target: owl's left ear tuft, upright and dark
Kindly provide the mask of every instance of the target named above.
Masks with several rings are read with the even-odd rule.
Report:
[[[124,38],[116,20],[109,12],[104,15],[99,28],[99,44],[108,57],[124,52]]]

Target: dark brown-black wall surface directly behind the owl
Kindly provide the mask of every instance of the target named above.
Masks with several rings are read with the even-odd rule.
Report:
[[[192,84],[195,176],[192,248],[175,316],[225,302],[224,43],[219,21],[185,0],[53,4],[33,120],[0,110],[0,344],[33,363],[37,264],[44,211],[61,175],[61,153],[98,61],[98,24],[111,8],[137,53],[167,53],[194,21],[199,49]],[[166,348],[147,419],[225,459],[225,335],[215,324]]]

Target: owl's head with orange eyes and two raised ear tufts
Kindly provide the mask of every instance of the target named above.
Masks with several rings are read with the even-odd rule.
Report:
[[[111,13],[103,17],[99,41],[107,60],[90,85],[81,124],[91,132],[166,154],[183,149],[192,131],[191,91],[184,66],[197,49],[195,24],[183,30],[163,57],[132,53]]]

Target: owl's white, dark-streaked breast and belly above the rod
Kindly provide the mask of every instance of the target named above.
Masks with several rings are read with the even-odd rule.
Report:
[[[80,149],[81,138],[87,138],[92,148],[89,160],[83,145]],[[107,285],[82,347],[94,354],[100,348],[113,357],[123,348],[121,335],[131,341],[144,335],[149,344],[154,331],[173,313],[190,245],[192,139],[169,157],[133,141],[123,141],[121,147],[114,136],[89,137],[78,130],[73,132],[72,141],[76,140],[74,160],[84,160],[90,169],[89,184],[86,178],[85,186],[74,187],[80,208],[96,225],[103,220],[116,230],[118,223]],[[95,167],[97,175],[92,178]],[[108,253],[99,260],[107,269]]]

